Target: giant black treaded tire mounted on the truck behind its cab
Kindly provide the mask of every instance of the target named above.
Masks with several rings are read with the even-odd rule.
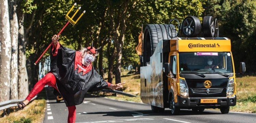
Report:
[[[171,34],[171,28],[174,25],[170,24],[169,33]],[[148,24],[144,30],[143,40],[143,66],[147,66],[147,62],[150,61],[150,57],[153,55],[156,46],[160,40],[170,40],[171,37],[167,33],[167,24]],[[176,35],[176,32],[172,32]]]

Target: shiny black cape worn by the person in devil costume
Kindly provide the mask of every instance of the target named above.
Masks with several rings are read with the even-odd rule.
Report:
[[[53,46],[52,46],[53,48]],[[52,49],[51,48],[51,49]],[[51,73],[55,75],[57,88],[64,98],[66,106],[74,106],[83,103],[86,92],[99,91],[108,87],[108,83],[94,70],[83,75],[74,70],[76,51],[63,47],[57,49],[54,56],[51,50]]]

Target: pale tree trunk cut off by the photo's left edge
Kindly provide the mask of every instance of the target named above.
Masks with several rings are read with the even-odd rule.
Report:
[[[0,0],[0,102],[10,99],[11,37],[8,1]]]

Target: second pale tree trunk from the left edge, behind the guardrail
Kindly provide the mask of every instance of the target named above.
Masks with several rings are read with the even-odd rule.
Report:
[[[10,31],[12,43],[10,99],[18,99],[18,18],[16,0],[9,1]]]

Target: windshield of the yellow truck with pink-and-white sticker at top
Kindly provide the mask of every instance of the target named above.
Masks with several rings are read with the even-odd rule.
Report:
[[[180,52],[180,73],[232,73],[230,52]]]

